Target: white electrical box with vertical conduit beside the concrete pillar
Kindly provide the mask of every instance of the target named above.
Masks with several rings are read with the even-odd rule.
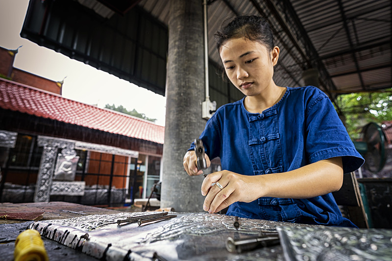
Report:
[[[217,102],[210,101],[208,82],[208,41],[207,41],[207,0],[204,5],[204,75],[205,75],[205,101],[201,103],[201,118],[210,119],[217,110]]]

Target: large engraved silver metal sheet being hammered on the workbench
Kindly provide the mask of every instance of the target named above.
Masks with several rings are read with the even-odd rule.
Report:
[[[242,254],[226,250],[227,237],[240,239],[275,232],[277,226],[299,224],[239,218],[221,214],[169,213],[169,220],[138,226],[117,224],[117,220],[152,213],[89,215],[63,220],[38,221],[29,226],[41,235],[73,249],[106,260],[277,260],[283,261],[280,245]],[[87,235],[86,235],[87,234]]]

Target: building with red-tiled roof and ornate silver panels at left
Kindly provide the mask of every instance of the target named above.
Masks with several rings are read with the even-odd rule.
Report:
[[[62,82],[14,68],[16,53],[0,48],[0,202],[148,197],[162,176],[164,127],[64,98]]]

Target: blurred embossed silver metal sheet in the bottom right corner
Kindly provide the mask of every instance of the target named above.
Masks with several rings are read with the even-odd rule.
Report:
[[[392,261],[392,230],[277,228],[288,261]]]

